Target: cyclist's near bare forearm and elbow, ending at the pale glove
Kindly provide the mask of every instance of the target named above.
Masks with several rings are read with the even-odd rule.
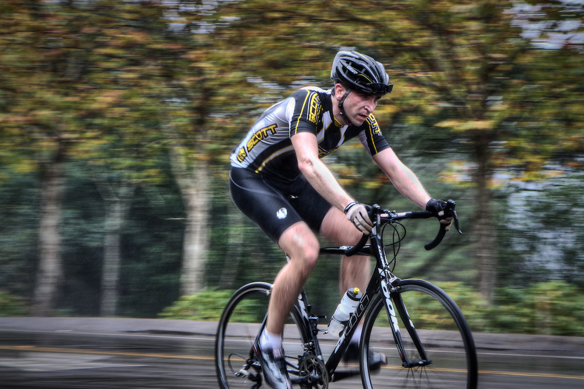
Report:
[[[296,151],[298,169],[322,197],[343,211],[353,198],[340,186],[326,164],[319,159],[317,137],[310,132],[298,132],[290,139]]]

